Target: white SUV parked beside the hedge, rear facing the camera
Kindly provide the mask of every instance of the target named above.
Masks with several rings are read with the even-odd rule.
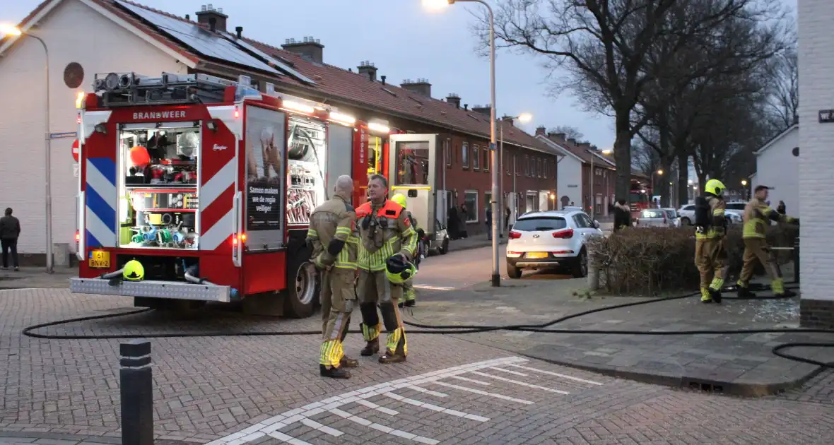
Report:
[[[603,236],[600,223],[585,212],[554,210],[528,213],[515,221],[507,241],[507,274],[523,269],[568,268],[575,278],[588,273],[585,240]]]

